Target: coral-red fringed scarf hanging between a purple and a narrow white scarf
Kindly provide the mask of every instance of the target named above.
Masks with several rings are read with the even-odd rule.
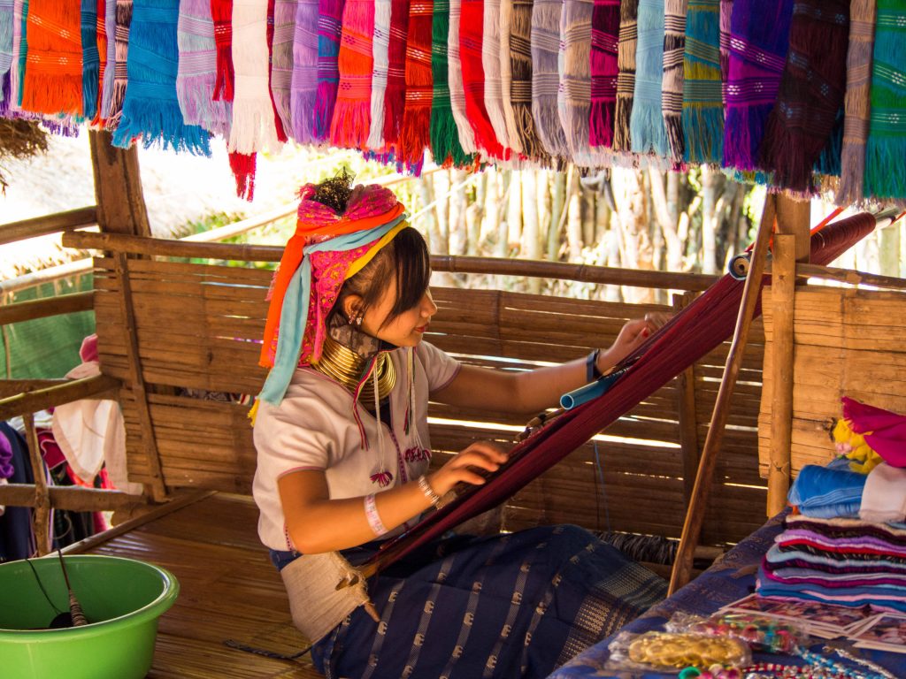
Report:
[[[333,106],[331,144],[364,148],[371,118],[371,77],[374,59],[374,0],[346,0],[342,10],[342,33],[337,67],[340,84]]]

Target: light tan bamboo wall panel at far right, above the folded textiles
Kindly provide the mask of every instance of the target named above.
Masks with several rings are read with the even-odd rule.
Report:
[[[773,361],[770,288],[764,291],[765,375]],[[793,474],[834,457],[828,423],[842,415],[840,398],[906,413],[906,294],[851,288],[805,287],[795,293],[793,368]],[[771,443],[771,390],[758,416],[758,458],[767,475]]]

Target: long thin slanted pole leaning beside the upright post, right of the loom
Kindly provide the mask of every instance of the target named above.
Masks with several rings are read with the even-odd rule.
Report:
[[[714,469],[717,464],[720,444],[723,440],[724,428],[727,426],[729,400],[733,394],[733,388],[736,387],[739,368],[746,352],[748,331],[755,315],[758,295],[761,292],[762,274],[765,268],[768,242],[775,217],[775,196],[769,194],[765,199],[765,210],[761,217],[761,224],[758,226],[755,250],[752,253],[751,267],[743,288],[742,301],[739,304],[736,330],[733,333],[733,342],[727,355],[724,377],[718,389],[718,397],[711,415],[705,447],[701,451],[699,470],[695,477],[695,488],[692,492],[692,502],[689,504],[688,512],[686,512],[682,537],[679,540],[679,550],[677,551],[676,560],[673,562],[673,571],[670,574],[670,594],[673,594],[673,592],[689,582],[692,573],[692,559],[695,555],[695,548],[699,543],[701,525],[705,521],[708,494],[714,479]]]

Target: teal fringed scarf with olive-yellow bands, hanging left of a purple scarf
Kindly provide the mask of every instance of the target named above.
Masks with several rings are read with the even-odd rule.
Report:
[[[719,163],[724,157],[720,0],[689,0],[683,69],[685,159],[691,163]]]

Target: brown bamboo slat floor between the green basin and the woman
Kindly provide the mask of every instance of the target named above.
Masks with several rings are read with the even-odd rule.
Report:
[[[179,504],[150,521],[130,522],[120,535],[67,550],[149,561],[179,580],[177,602],[160,618],[149,679],[322,677],[307,657],[273,660],[223,644],[235,639],[284,655],[307,646],[293,626],[283,582],[258,541],[251,498],[201,494]]]

